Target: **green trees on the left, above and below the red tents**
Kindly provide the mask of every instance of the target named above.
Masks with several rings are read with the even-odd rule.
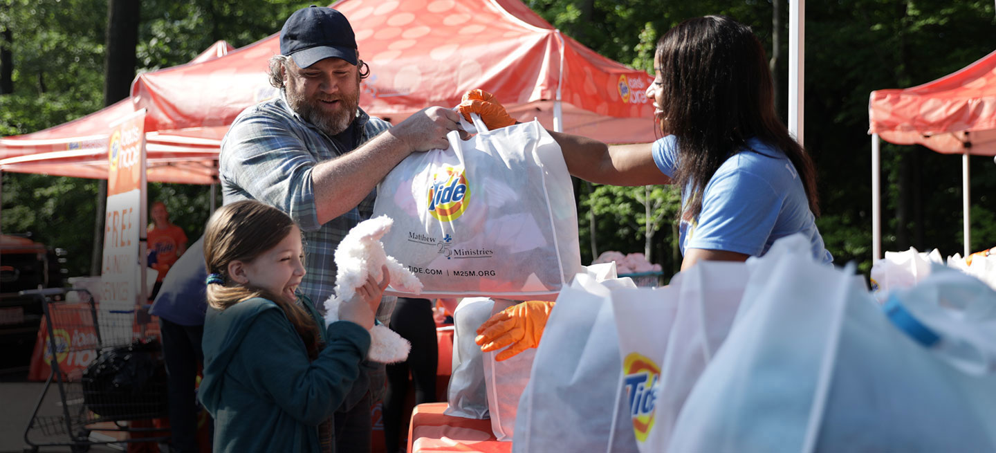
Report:
[[[14,93],[0,96],[0,135],[33,132],[99,111],[107,0],[5,1],[0,29],[12,32],[7,45],[14,57]],[[309,4],[144,0],[137,72],[186,63],[220,39],[235,47],[263,39]],[[67,249],[70,275],[89,273],[96,180],[8,172],[0,194],[5,234],[29,233]],[[148,199],[162,200],[191,242],[203,232],[210,206],[207,186],[150,183]]]

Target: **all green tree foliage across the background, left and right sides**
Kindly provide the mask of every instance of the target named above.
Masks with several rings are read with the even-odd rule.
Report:
[[[138,1],[138,0],[136,0]],[[277,33],[284,19],[310,2],[279,0],[140,0],[137,71],[183,64],[217,40],[240,47]],[[788,87],[789,2],[781,3],[781,29],[772,30],[778,0],[524,0],[565,34],[600,54],[650,71],[659,36],[681,20],[726,14],[750,25],[771,52],[781,36],[783,59],[775,73],[780,111]],[[843,0],[807,2],[805,140],[819,168],[823,216],[818,220],[838,263],[871,267],[871,139],[868,100],[873,90],[906,88],[957,71],[996,49],[991,0]],[[0,31],[10,30],[14,93],[0,96],[0,134],[26,133],[93,113],[102,104],[106,0],[4,0]],[[2,35],[0,35],[2,36]],[[972,250],[996,245],[996,168],[991,158],[972,161]],[[937,247],[961,252],[960,157],[920,146],[882,146],[883,250]],[[585,187],[582,185],[582,187]],[[71,274],[89,267],[96,182],[6,173],[2,229],[32,231],[71,250]],[[600,251],[644,249],[645,207],[660,202],[654,262],[674,268],[677,196],[654,187],[579,190],[585,260],[594,230]],[[150,184],[191,240],[203,228],[208,188]],[[594,225],[588,210],[594,211]],[[651,222],[652,225],[652,222]]]

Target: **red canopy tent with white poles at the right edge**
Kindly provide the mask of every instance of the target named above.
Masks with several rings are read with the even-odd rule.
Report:
[[[878,137],[962,154],[964,252],[969,254],[968,156],[996,155],[996,52],[933,82],[904,90],[877,90],[869,101],[872,254],[881,258]]]

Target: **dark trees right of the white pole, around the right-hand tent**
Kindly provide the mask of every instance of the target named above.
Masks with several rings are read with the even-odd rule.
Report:
[[[816,156],[824,216],[838,262],[871,269],[873,90],[907,88],[953,73],[996,49],[993,2],[809,2],[806,145]],[[961,253],[961,158],[922,146],[882,145],[882,250]],[[973,157],[973,210],[993,212],[996,171]],[[992,223],[974,217],[972,250],[996,245]]]

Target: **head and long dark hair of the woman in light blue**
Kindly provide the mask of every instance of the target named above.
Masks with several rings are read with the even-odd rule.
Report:
[[[677,138],[674,183],[685,189],[691,182],[679,215],[698,216],[706,184],[750,137],[785,152],[802,178],[810,210],[820,215],[816,167],[775,113],[768,59],[750,27],[726,16],[688,19],[660,37],[655,57],[664,133]]]

